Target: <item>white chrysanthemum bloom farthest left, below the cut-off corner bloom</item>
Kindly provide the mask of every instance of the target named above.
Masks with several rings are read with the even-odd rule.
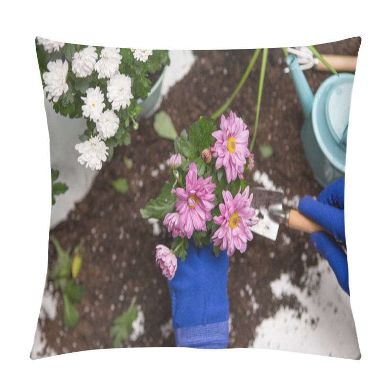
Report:
[[[63,93],[68,90],[68,85],[66,84],[66,75],[68,74],[68,62],[65,60],[63,62],[58,59],[55,62],[49,61],[47,63],[48,72],[44,72],[43,82],[45,87],[43,88],[44,92],[47,92],[47,99],[52,99],[53,102],[57,102]]]

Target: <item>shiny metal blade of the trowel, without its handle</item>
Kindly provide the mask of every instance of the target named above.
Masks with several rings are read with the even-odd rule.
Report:
[[[255,209],[258,218],[258,224],[250,229],[255,234],[264,238],[276,240],[280,224],[272,220],[269,216],[270,210],[282,210],[283,192],[278,190],[266,190],[261,187],[255,187],[252,190],[252,207]]]

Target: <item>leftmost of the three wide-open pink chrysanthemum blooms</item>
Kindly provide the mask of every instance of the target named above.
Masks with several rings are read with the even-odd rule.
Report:
[[[183,228],[188,239],[194,230],[206,231],[206,221],[212,220],[211,210],[215,207],[212,201],[216,198],[213,194],[216,185],[212,183],[212,176],[206,179],[197,179],[197,167],[192,163],[186,175],[186,190],[177,188],[176,211],[179,213],[178,227]]]

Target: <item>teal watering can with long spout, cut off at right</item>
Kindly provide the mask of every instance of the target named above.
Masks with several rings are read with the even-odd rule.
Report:
[[[316,181],[323,187],[345,178],[346,144],[354,75],[327,78],[312,94],[296,56],[286,63],[304,112],[301,137],[305,157]]]

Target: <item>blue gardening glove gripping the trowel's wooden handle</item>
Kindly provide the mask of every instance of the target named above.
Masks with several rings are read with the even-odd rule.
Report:
[[[345,237],[345,180],[338,179],[328,185],[318,196],[304,197],[299,202],[299,212],[326,229],[310,236],[311,246],[319,251],[333,269],[341,288],[350,295],[348,281],[348,257],[341,247],[346,248]],[[338,240],[338,242],[337,242]]]

